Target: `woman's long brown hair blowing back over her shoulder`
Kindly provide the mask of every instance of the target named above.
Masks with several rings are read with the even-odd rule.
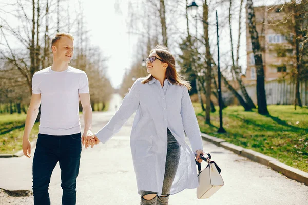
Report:
[[[176,70],[176,61],[174,56],[170,53],[169,49],[162,45],[157,45],[155,49],[150,51],[155,51],[158,57],[163,60],[163,63],[167,63],[166,77],[172,84],[178,84],[181,86],[186,86],[188,90],[191,90],[190,83],[184,80],[184,76],[180,75]],[[141,83],[146,84],[153,79],[153,76],[149,74]]]

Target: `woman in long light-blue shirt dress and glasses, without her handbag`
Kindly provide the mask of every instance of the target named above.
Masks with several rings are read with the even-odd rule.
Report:
[[[177,73],[168,48],[151,50],[146,67],[150,74],[136,80],[94,139],[105,143],[137,110],[130,146],[141,204],[168,204],[169,195],[198,186],[194,154],[202,162],[201,133],[188,94],[191,86]]]

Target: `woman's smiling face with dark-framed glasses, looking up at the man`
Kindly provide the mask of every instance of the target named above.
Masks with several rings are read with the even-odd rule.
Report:
[[[168,67],[167,63],[163,63],[162,59],[158,57],[155,51],[151,52],[149,57],[146,59],[146,69],[151,75],[159,75],[166,72]]]

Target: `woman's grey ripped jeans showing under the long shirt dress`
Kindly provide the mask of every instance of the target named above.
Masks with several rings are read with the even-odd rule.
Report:
[[[172,183],[177,173],[180,154],[181,154],[181,146],[171,134],[170,130],[168,129],[167,132],[168,136],[168,149],[167,149],[167,157],[166,157],[166,168],[165,168],[165,176],[164,176],[164,183],[163,183],[163,196],[156,196],[153,199],[146,200],[144,198],[147,194],[158,194],[157,192],[151,191],[141,191],[141,205],[168,205],[169,201],[169,194],[171,190]]]

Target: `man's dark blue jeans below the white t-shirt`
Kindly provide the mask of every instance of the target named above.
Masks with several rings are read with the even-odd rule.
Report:
[[[48,187],[58,161],[63,189],[62,204],[76,204],[76,178],[80,153],[81,133],[65,136],[38,134],[32,168],[35,205],[50,204]]]

